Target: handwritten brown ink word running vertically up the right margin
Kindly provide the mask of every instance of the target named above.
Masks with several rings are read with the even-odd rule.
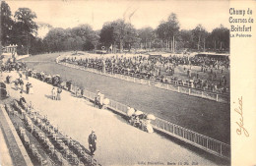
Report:
[[[234,111],[237,112],[240,115],[239,118],[239,122],[235,122],[237,124],[237,129],[236,129],[236,134],[237,135],[241,135],[242,132],[244,134],[245,137],[249,137],[249,133],[247,132],[247,130],[244,128],[244,123],[243,123],[243,112],[242,112],[242,96],[240,98],[238,98],[238,103],[239,106],[238,108],[235,108]]]

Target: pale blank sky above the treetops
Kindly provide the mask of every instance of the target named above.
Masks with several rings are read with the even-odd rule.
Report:
[[[130,23],[135,28],[157,28],[170,13],[175,13],[181,29],[192,29],[201,24],[208,31],[228,25],[229,2],[221,1],[164,1],[164,0],[53,0],[53,1],[6,1],[12,14],[18,8],[27,7],[35,12],[36,22],[47,23],[54,28],[74,28],[89,24],[94,29],[102,28],[106,22],[125,18],[133,14]],[[124,15],[126,13],[126,15]],[[125,17],[124,17],[125,16]]]

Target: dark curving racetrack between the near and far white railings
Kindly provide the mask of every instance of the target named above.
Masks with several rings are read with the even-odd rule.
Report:
[[[229,104],[145,84],[125,82],[56,64],[55,58],[63,54],[36,55],[22,61],[27,62],[31,69],[51,75],[58,74],[63,80],[72,80],[93,92],[99,89],[107,98],[153,113],[199,134],[229,143]]]

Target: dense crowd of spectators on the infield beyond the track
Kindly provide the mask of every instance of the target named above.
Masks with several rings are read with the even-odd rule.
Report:
[[[229,84],[224,73],[229,72],[227,57],[189,57],[169,56],[112,56],[100,58],[66,57],[61,62],[71,63],[85,68],[93,68],[103,73],[122,74],[141,79],[155,80],[161,83],[188,83],[190,87],[228,92]],[[193,71],[197,67],[199,71]],[[181,78],[175,71],[182,68],[187,78]],[[200,74],[202,73],[202,74]],[[203,76],[208,76],[203,77]],[[218,76],[222,77],[218,77]],[[180,85],[180,84],[179,84]]]

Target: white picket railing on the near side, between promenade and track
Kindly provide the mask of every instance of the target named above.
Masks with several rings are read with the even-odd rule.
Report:
[[[71,88],[71,91],[75,92],[74,90],[78,88],[80,87],[73,86]],[[94,101],[96,93],[83,89],[83,96]],[[107,108],[126,116],[128,106],[109,99],[109,104],[107,105]],[[152,125],[156,130],[163,132],[171,137],[181,139],[224,159],[230,159],[230,145],[222,141],[206,137],[204,135],[198,134],[191,130],[162,120],[158,117],[155,121],[152,121]]]

